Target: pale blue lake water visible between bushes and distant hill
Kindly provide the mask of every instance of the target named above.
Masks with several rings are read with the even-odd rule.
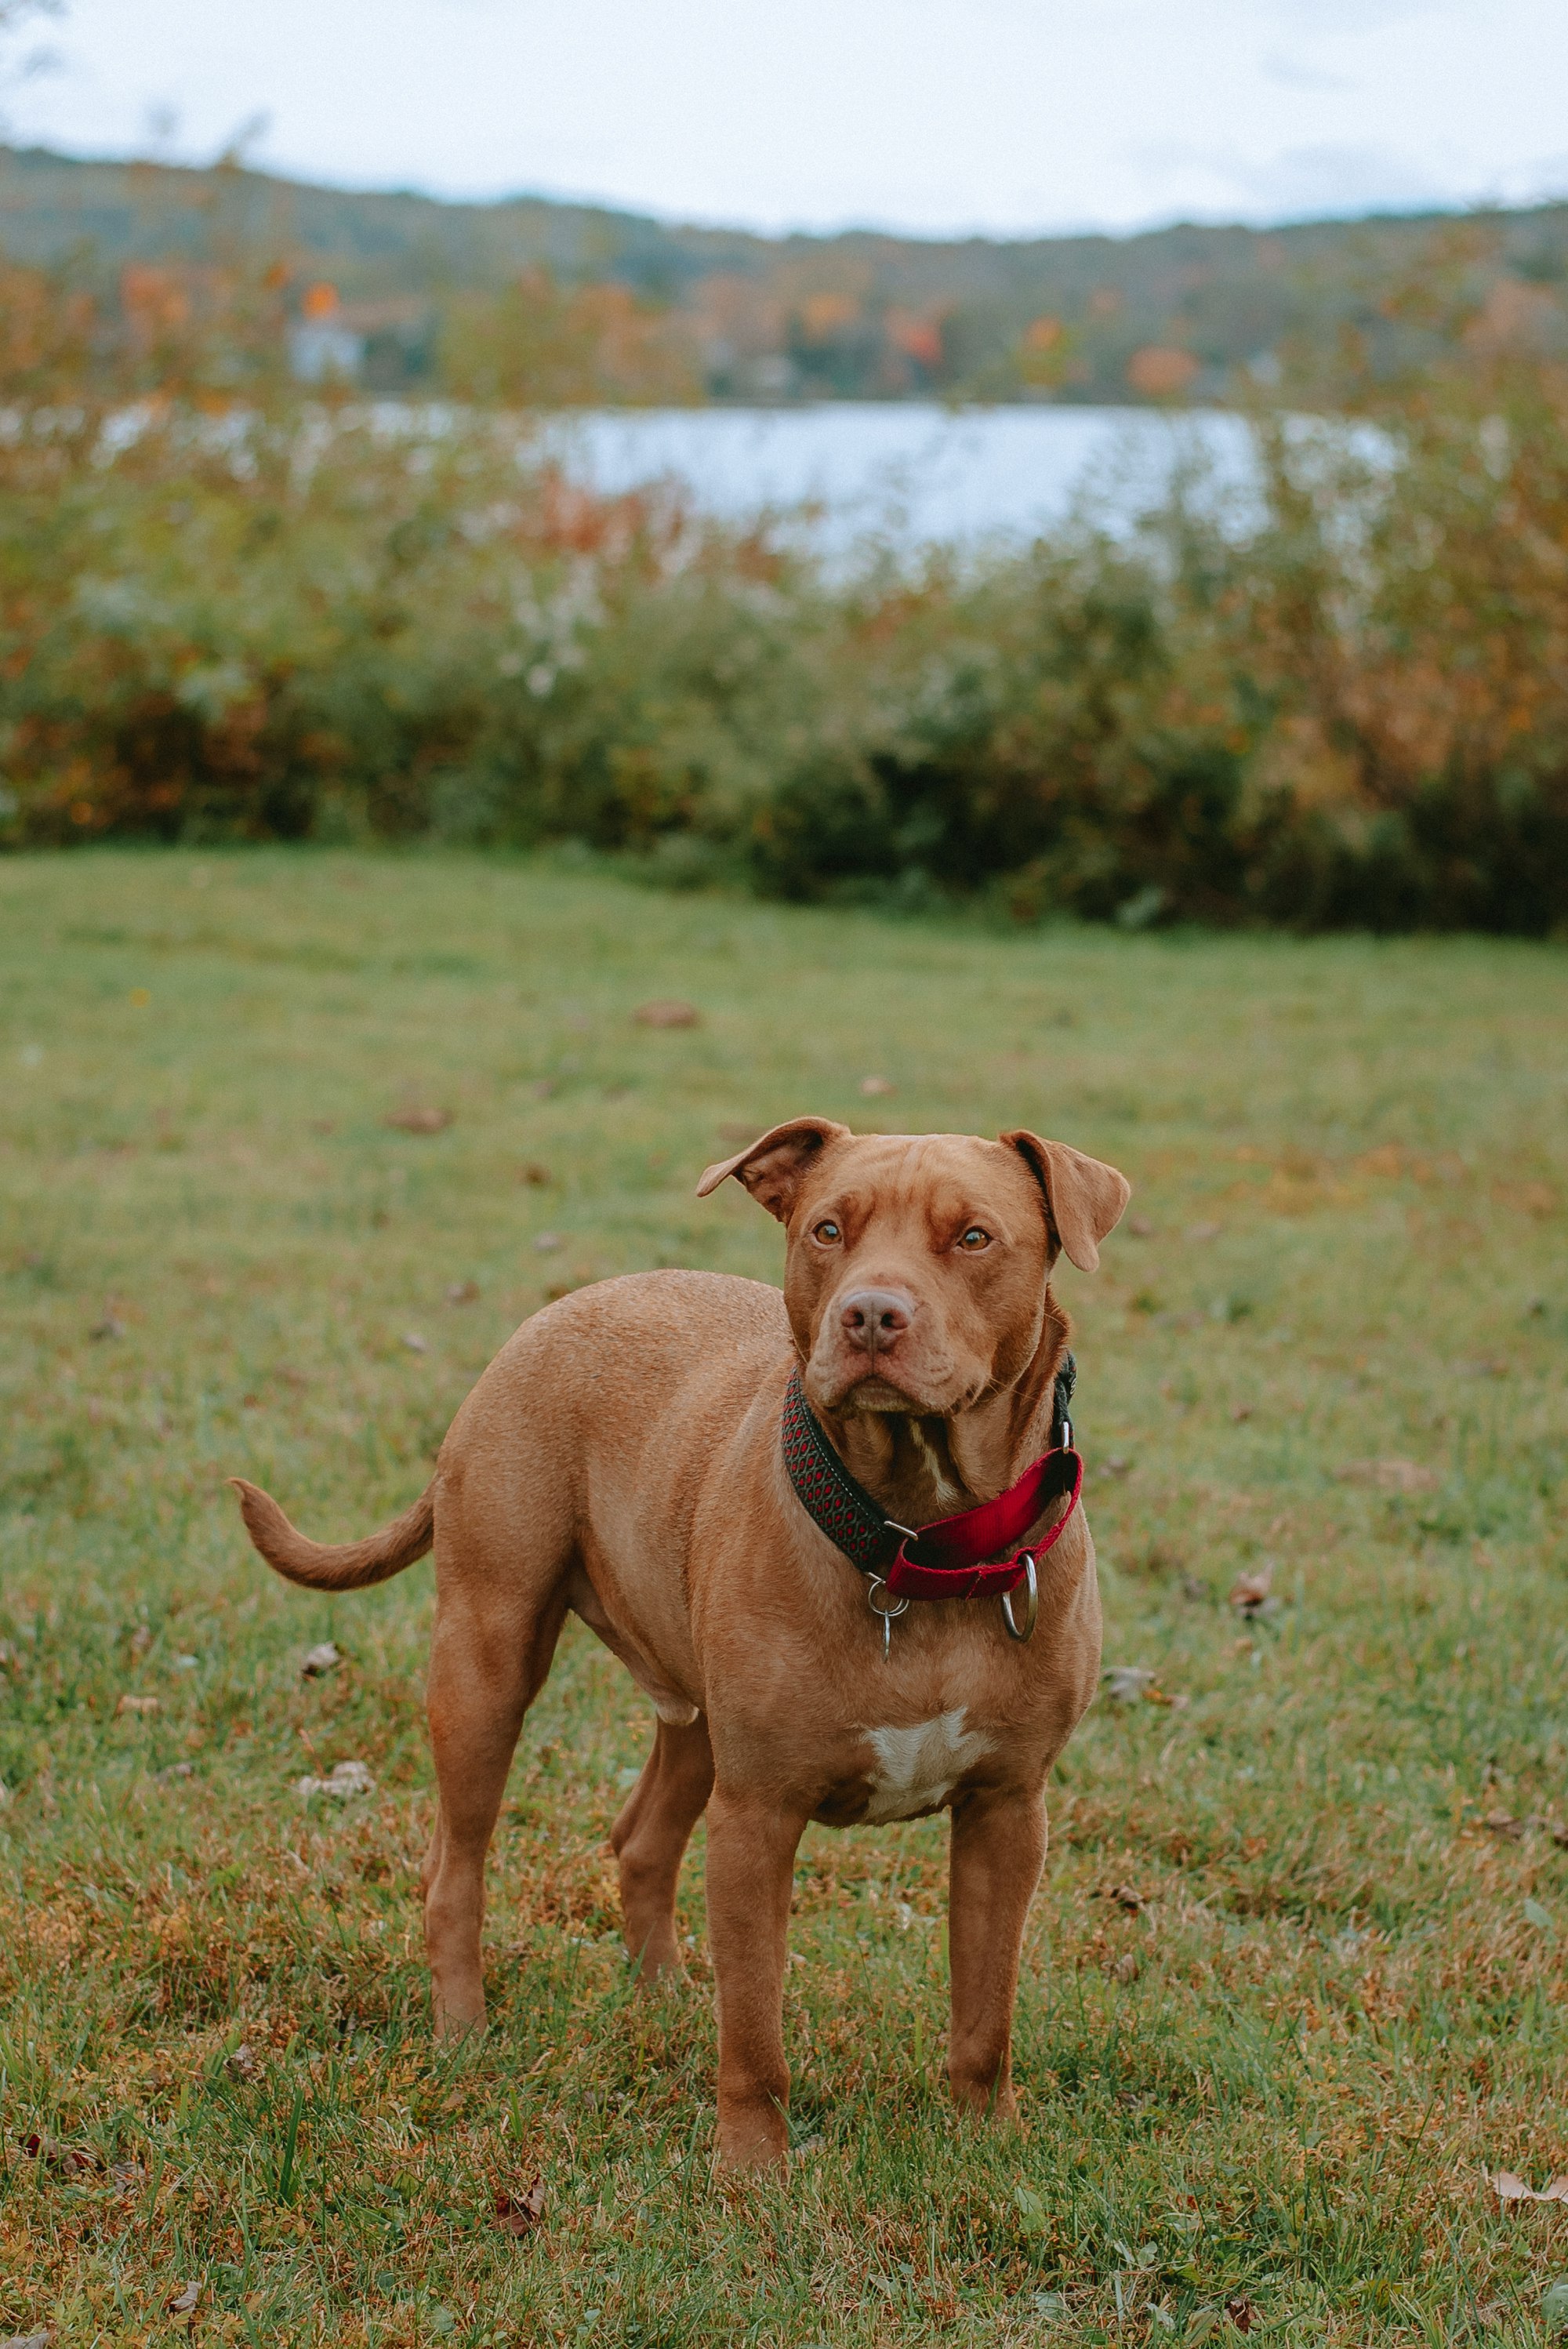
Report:
[[[1251,479],[1246,425],[1216,409],[606,409],[554,420],[545,442],[587,486],[667,479],[702,512],[789,514],[836,552],[1030,538],[1082,498],[1127,521],[1195,456],[1223,491]]]

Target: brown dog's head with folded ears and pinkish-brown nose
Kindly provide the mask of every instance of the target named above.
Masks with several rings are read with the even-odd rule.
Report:
[[[1091,1273],[1131,1191],[1066,1142],[852,1135],[791,1118],[711,1165],[789,1233],[784,1301],[822,1412],[953,1419],[1033,1362],[1061,1252]]]

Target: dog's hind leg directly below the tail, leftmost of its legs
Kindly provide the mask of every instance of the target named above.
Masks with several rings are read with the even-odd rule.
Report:
[[[441,1590],[425,1696],[441,1809],[423,1877],[441,2039],[484,2022],[484,1856],[523,1712],[545,1684],[563,1618],[563,1583],[533,1609],[514,1593],[498,1602],[481,1586]]]

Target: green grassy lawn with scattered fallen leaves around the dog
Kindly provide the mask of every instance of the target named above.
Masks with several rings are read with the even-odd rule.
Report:
[[[0,2335],[1552,2333],[1568,2208],[1488,2173],[1568,2168],[1561,951],[94,850],[0,862]],[[638,1027],[655,996],[699,1024]],[[547,1294],[775,1278],[692,1182],[807,1109],[1134,1179],[1061,1292],[1106,1658],[1157,1677],[1059,1771],[1023,2126],[944,2100],[944,1823],[807,1830],[798,2152],[725,2185],[699,1839],[690,1987],[631,1997],[615,1936],[646,1703],[573,1626],[493,1853],[493,2030],[437,2053],[430,1567],[289,1590],[223,1478],[369,1532]],[[369,1795],[298,1792],[343,1759]]]

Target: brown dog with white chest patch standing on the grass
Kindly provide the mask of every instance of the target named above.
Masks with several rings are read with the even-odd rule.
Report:
[[[915,1604],[885,1628],[869,1607],[890,1611],[883,1579],[854,1571],[786,1470],[791,1374],[892,1527],[991,1501],[1049,1445],[1068,1341],[1056,1254],[1094,1271],[1129,1186],[1038,1135],[857,1137],[831,1118],[775,1125],[699,1196],[728,1174],[786,1226],[782,1297],[634,1273],[547,1306],[453,1419],[425,1494],[369,1541],[305,1541],[235,1485],[261,1555],[315,1590],[378,1583],[434,1539],[425,1940],[441,2032],[484,2022],[486,1846],[568,1609],[653,1698],[653,1755],[613,1830],[627,1945],[648,1973],[678,1966],[676,1875],[707,1811],[718,2147],[753,2163],[789,2142],[784,1936],[810,1818],[953,1811],[948,2077],[962,2105],[1014,2109],[1045,1781],[1101,1654],[1073,1508],[1040,1557],[1033,1640],[1007,1637],[995,1597]],[[1030,1529],[1042,1550],[1061,1499]]]

